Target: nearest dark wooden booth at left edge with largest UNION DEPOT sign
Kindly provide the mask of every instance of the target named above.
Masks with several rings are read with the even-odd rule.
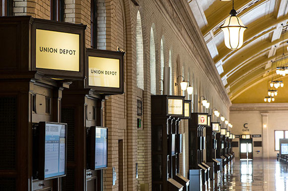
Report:
[[[39,174],[38,165],[34,163],[39,156],[33,155],[37,149],[37,142],[33,142],[33,124],[61,122],[64,89],[69,88],[71,81],[84,79],[85,28],[81,24],[31,16],[0,17],[0,36],[4,37],[0,47],[0,139],[6,144],[2,147],[5,154],[0,155],[1,188],[61,191],[63,178],[60,177],[67,172],[57,173],[57,162],[51,162],[43,176],[43,171]],[[55,127],[51,130],[47,128],[47,135],[60,132]],[[55,159],[61,161],[60,170],[66,166],[62,156]],[[52,169],[55,174],[48,178],[47,172]]]

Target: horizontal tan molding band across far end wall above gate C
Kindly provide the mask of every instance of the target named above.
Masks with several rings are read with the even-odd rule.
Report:
[[[288,110],[288,103],[233,103],[230,111]]]

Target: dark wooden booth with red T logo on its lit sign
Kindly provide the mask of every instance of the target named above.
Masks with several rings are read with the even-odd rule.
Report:
[[[190,191],[202,191],[210,185],[211,167],[206,164],[206,135],[210,116],[207,113],[191,113],[189,119],[189,180]],[[210,123],[210,122],[209,122]],[[205,157],[205,158],[204,158]]]

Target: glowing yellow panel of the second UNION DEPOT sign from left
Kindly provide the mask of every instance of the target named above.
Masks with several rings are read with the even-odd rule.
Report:
[[[120,88],[120,60],[88,56],[88,85]]]

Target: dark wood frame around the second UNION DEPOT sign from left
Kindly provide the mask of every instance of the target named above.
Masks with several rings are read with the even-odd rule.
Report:
[[[100,94],[104,95],[116,95],[124,93],[124,52],[119,51],[110,51],[110,50],[100,50],[86,48],[86,60],[85,60],[85,88],[90,88],[97,91]],[[113,58],[119,59],[119,70],[120,70],[120,87],[119,88],[108,88],[108,87],[98,87],[98,86],[89,86],[89,56],[93,57],[102,57],[102,58]]]

